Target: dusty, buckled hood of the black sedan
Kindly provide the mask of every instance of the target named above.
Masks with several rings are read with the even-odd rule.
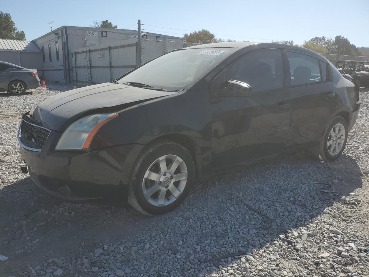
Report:
[[[116,112],[150,99],[175,92],[143,89],[114,83],[102,83],[68,90],[42,102],[32,116],[51,130],[65,130],[78,118],[96,112]]]

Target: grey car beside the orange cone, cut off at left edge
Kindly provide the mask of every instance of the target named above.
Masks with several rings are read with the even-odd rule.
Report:
[[[28,69],[9,62],[0,61],[0,91],[22,95],[27,89],[40,86],[37,69]]]

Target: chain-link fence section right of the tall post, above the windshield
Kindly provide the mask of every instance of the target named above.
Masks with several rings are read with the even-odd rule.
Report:
[[[141,39],[141,64],[145,64],[146,62],[175,49],[186,48],[194,45],[199,45],[199,43]]]

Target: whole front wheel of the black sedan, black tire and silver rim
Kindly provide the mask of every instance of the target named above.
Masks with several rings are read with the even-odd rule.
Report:
[[[145,215],[173,211],[189,194],[194,175],[193,159],[186,148],[170,140],[156,141],[145,147],[135,161],[128,202]]]

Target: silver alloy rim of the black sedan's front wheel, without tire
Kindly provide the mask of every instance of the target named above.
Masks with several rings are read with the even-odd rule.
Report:
[[[187,166],[177,155],[159,157],[146,170],[142,193],[153,206],[167,206],[176,201],[187,183]]]

